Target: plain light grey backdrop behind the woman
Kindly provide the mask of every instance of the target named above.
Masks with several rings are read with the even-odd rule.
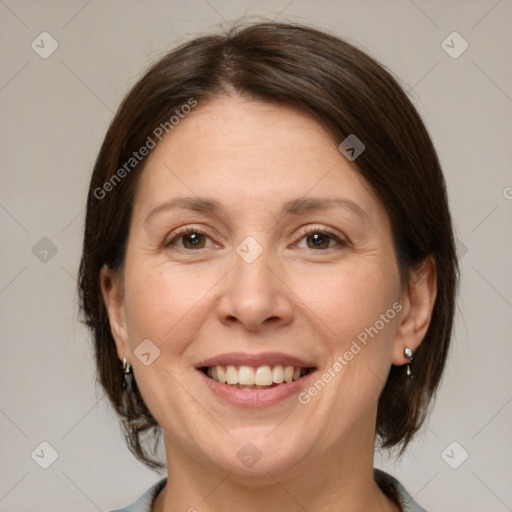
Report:
[[[433,414],[401,460],[377,462],[428,510],[512,510],[510,0],[0,0],[0,510],[104,510],[160,478],[125,447],[77,321],[86,190],[141,71],[243,14],[355,42],[423,115],[446,173],[461,297]],[[46,59],[31,47],[51,49],[43,31],[58,43]],[[441,45],[453,31],[469,44],[458,58],[462,40],[444,44],[452,56]]]

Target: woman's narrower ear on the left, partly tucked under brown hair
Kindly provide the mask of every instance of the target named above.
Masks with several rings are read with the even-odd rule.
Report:
[[[129,354],[122,279],[121,272],[112,271],[106,264],[100,270],[101,293],[107,309],[110,331],[116,343],[117,355],[121,361]]]

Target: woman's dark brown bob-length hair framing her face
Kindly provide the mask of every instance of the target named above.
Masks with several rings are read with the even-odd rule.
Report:
[[[433,259],[437,296],[413,362],[414,378],[407,378],[404,367],[392,366],[379,398],[377,441],[401,453],[425,420],[452,334],[459,270],[439,160],[417,110],[382,65],[333,35],[272,22],[237,24],[161,58],[121,103],[94,166],[79,270],[80,307],[93,333],[99,381],[120,416],[130,450],[147,466],[163,467],[156,457],[161,433],[156,420],[136,383],[132,393],[122,386],[100,269],[103,264],[114,271],[123,268],[134,192],[147,159],[137,153],[134,160],[134,152],[149,147],[150,139],[158,142],[158,127],[170,132],[171,118],[188,111],[184,105],[220,96],[306,112],[337,145],[355,134],[365,150],[354,168],[389,215],[403,286],[411,271]],[[154,441],[151,449],[148,436]]]

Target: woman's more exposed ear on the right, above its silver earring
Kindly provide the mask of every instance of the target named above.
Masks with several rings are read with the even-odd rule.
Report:
[[[409,286],[402,295],[403,309],[393,347],[392,363],[409,362],[404,355],[406,347],[416,350],[427,333],[437,296],[437,272],[435,261],[428,257],[412,271]]]

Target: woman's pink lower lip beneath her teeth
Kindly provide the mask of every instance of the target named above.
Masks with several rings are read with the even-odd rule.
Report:
[[[202,378],[205,380],[206,385],[218,397],[226,402],[237,407],[266,407],[269,405],[277,404],[291,396],[297,395],[302,388],[304,388],[310,380],[310,377],[315,373],[311,372],[300,379],[293,382],[283,382],[278,386],[269,389],[238,389],[223,384],[205,375],[201,370],[198,370]]]

